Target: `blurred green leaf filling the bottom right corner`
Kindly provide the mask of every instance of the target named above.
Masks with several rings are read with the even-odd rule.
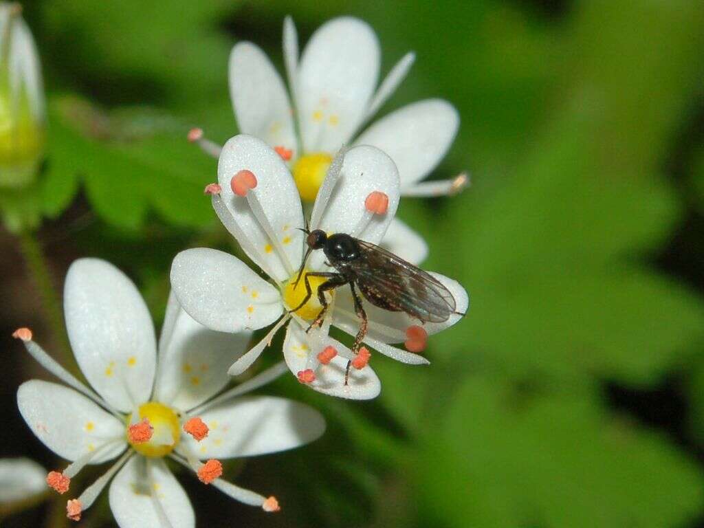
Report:
[[[432,525],[497,528],[691,520],[704,505],[691,461],[582,396],[516,399],[500,380],[467,379],[409,467],[421,516]]]

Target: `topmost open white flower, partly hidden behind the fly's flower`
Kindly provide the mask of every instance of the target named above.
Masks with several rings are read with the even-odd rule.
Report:
[[[458,130],[458,113],[447,101],[417,101],[365,129],[406,77],[415,54],[403,56],[377,87],[379,42],[362,20],[329,20],[310,37],[300,61],[290,17],[284,22],[283,39],[294,105],[269,58],[251,42],[239,42],[230,54],[230,96],[240,132],[263,139],[289,162],[304,201],[315,200],[334,154],[350,142],[376,146],[391,156],[403,196],[455,194],[464,187],[464,174],[453,180],[420,182],[445,156]],[[191,136],[194,139],[206,151],[218,152],[218,146],[201,134]],[[425,241],[398,219],[383,245],[413,263],[427,254]],[[422,251],[408,255],[408,246]]]

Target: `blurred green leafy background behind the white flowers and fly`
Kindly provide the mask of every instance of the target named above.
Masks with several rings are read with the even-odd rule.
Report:
[[[9,335],[31,326],[65,357],[56,299],[73,259],[125,270],[160,322],[177,251],[233,251],[202,196],[215,161],[185,141],[194,126],[218,142],[237,132],[232,44],[252,40],[280,68],[285,15],[303,43],[351,14],[377,31],[384,73],[417,54],[382,113],[430,96],[460,112],[436,177],[467,169],[472,187],[404,199],[399,216],[429,241],[425,267],[459,279],[472,308],[431,340],[430,367],[377,358],[375,401],[292,377],[265,389],[319,408],[328,432],[227,467],[276,494],[276,515],[183,474],[198,526],[704,527],[701,0],[23,6],[49,143],[32,193],[4,201],[30,228],[0,230],[0,455],[63,466],[16,410],[18,384],[46,375]],[[106,499],[82,526],[113,526]],[[3,526],[61,527],[64,507],[57,498]]]

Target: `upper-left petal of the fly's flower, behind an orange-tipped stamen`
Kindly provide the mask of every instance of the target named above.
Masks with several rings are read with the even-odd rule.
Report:
[[[250,170],[257,179],[257,187],[249,191],[256,195],[266,218],[258,218],[249,206],[248,199],[237,196],[230,187],[232,177],[240,170]],[[256,263],[265,261],[267,268],[275,273],[279,282],[291,275],[279,256],[281,246],[294,268],[301,262],[303,233],[296,227],[303,227],[303,209],[298,189],[291,172],[270,146],[261,139],[245,134],[232,137],[224,147],[218,161],[218,180],[222,187],[222,201],[241,234],[248,241],[240,241],[247,254]],[[277,237],[272,241],[263,227],[263,221],[274,230]],[[257,253],[250,254],[253,246]]]

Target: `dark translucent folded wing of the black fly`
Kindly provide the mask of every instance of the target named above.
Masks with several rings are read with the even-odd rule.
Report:
[[[348,266],[370,302],[423,322],[444,322],[455,312],[455,298],[438,279],[386,249],[359,239],[357,242],[360,258]]]

